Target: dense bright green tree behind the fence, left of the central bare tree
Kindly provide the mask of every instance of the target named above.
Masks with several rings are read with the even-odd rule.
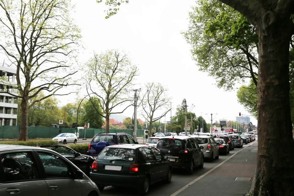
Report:
[[[100,104],[100,100],[97,97],[91,97],[92,101],[87,100],[85,104],[83,104],[84,109],[84,115],[82,116],[82,124],[80,126],[83,126],[84,124],[90,123],[91,128],[100,129],[103,124],[103,118],[99,112],[102,113],[102,108]],[[94,104],[94,106],[93,106]]]

